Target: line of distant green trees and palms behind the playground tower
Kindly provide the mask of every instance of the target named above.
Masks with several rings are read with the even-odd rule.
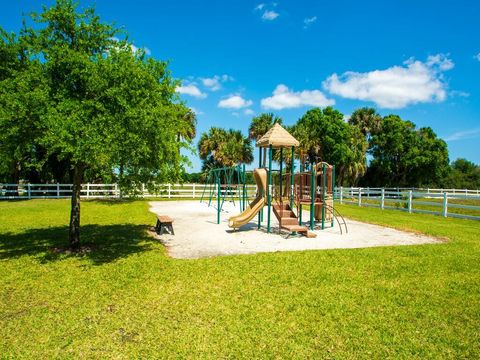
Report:
[[[253,161],[253,145],[276,122],[274,114],[252,119],[247,137],[234,130],[211,128],[201,135],[198,149],[203,180],[211,168]],[[417,128],[398,115],[380,116],[361,108],[348,121],[332,108],[308,110],[285,128],[300,142],[295,157],[301,163],[325,161],[336,165],[338,185],[370,187],[479,188],[480,167],[458,159],[449,163],[448,148],[430,127]],[[278,160],[278,152],[274,159]],[[289,152],[284,159],[290,162]],[[203,175],[202,175],[203,174]],[[189,178],[193,181],[194,177]]]

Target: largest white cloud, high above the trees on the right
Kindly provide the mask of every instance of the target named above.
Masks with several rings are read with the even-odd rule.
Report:
[[[447,96],[443,71],[454,63],[446,55],[429,56],[426,62],[413,58],[403,66],[366,73],[348,71],[332,74],[323,86],[329,92],[348,99],[372,101],[379,107],[400,109],[410,104],[440,102]]]

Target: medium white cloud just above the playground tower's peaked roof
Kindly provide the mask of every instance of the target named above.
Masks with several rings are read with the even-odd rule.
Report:
[[[265,109],[288,109],[301,106],[329,106],[335,104],[335,100],[328,99],[320,90],[303,90],[294,92],[287,86],[277,85],[273,95],[262,99],[262,107]]]

